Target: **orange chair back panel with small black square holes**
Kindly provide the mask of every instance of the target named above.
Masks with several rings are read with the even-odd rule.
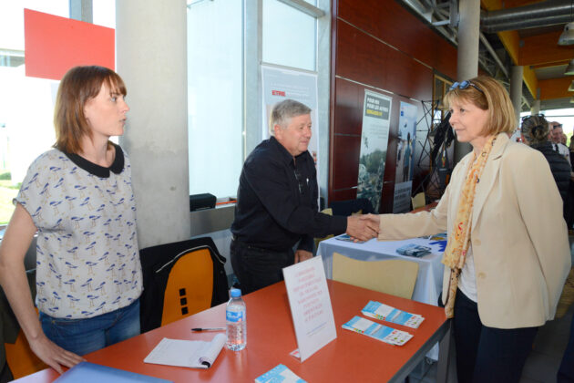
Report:
[[[169,273],[161,326],[210,308],[212,295],[213,261],[210,250],[200,248],[180,255]]]

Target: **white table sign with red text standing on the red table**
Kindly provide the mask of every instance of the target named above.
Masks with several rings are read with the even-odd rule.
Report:
[[[301,361],[337,337],[323,260],[316,256],[283,269]]]

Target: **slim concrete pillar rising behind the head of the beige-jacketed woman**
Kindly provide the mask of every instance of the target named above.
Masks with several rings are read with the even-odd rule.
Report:
[[[464,81],[478,76],[478,39],[480,36],[480,0],[460,0],[458,3],[458,51],[456,79]],[[472,150],[469,143],[456,141],[455,162]]]

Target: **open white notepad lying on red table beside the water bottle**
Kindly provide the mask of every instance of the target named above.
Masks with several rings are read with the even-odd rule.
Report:
[[[190,368],[209,368],[225,345],[225,335],[213,336],[210,342],[164,337],[144,359],[145,363]]]

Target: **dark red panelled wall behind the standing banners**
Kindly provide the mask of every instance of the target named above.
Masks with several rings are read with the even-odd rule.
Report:
[[[329,201],[356,198],[364,89],[384,89],[393,101],[380,212],[392,212],[400,102],[420,119],[434,74],[456,78],[456,47],[395,0],[333,0],[332,36]],[[416,166],[425,137],[417,131],[414,188],[428,168]]]

